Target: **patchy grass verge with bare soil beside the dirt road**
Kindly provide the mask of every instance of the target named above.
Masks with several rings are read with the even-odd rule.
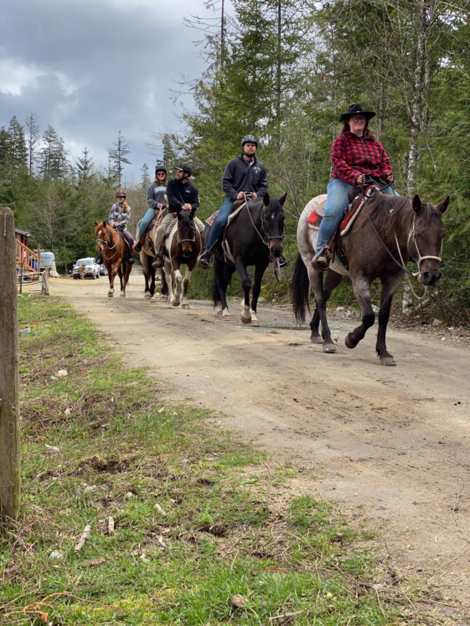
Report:
[[[60,300],[19,316],[23,506],[0,535],[0,623],[421,623],[375,584],[366,529],[290,495],[295,472],[160,401]]]

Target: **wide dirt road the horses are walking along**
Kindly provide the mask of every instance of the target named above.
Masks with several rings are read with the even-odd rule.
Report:
[[[115,337],[129,362],[149,365],[172,396],[219,409],[222,427],[279,463],[310,469],[317,495],[380,527],[407,575],[444,574],[447,597],[470,604],[465,344],[392,330],[398,366],[381,367],[375,332],[353,351],[344,346],[354,320],[332,320],[338,352],[323,354],[309,332],[291,327],[290,309],[259,307],[256,329],[238,321],[238,304],[237,321],[223,322],[207,304],[144,300],[138,271],[126,299],[108,299],[107,283],[54,280],[51,291]]]

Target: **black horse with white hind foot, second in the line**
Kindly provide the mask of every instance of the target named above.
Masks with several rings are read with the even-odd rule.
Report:
[[[224,239],[227,254],[224,255],[220,248],[214,254],[214,287],[212,289],[214,305],[222,305],[224,321],[231,321],[226,294],[232,274],[237,270],[244,291],[241,321],[244,324],[251,323],[251,326],[259,326],[256,305],[261,291],[261,280],[263,280],[269,260],[278,259],[283,251],[283,206],[286,197],[287,193],[279,199],[270,198],[266,193],[263,198],[249,200],[236,218],[229,222]],[[207,241],[208,237],[206,225],[204,239]],[[249,302],[251,279],[246,271],[248,265],[254,265],[251,306]]]

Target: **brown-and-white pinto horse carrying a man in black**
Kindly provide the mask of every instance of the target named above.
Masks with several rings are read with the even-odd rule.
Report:
[[[181,302],[182,309],[189,309],[186,299],[191,272],[201,252],[201,233],[194,223],[194,208],[177,213],[178,222],[165,239],[165,279],[168,287],[167,302],[174,307]],[[184,279],[181,265],[187,265]],[[173,272],[175,291],[173,292]]]

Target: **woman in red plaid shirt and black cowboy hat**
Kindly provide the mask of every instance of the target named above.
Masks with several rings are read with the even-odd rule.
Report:
[[[326,187],[325,217],[321,220],[316,255],[312,260],[315,269],[328,267],[323,248],[342,220],[353,185],[360,185],[365,174],[382,180],[384,185],[394,180],[389,155],[368,129],[368,121],[374,115],[359,104],[351,105],[347,113],[340,115],[343,128],[332,145],[332,178]],[[384,193],[398,195],[391,187]]]

